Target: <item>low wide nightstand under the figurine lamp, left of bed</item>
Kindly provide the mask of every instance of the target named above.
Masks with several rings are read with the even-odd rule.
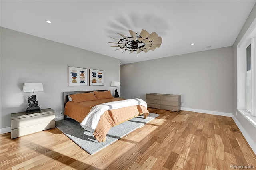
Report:
[[[55,111],[51,108],[11,114],[11,139],[54,127]]]

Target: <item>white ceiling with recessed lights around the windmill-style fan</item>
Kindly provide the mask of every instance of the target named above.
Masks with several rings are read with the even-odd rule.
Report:
[[[121,64],[232,46],[256,0],[1,0],[0,25],[110,57]],[[47,24],[51,20],[52,24]],[[122,53],[110,38],[156,32],[154,51]],[[194,43],[195,45],[190,45]],[[212,46],[206,48],[206,46]]]

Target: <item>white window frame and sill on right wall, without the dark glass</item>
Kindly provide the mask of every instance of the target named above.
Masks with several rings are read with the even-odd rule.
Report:
[[[237,45],[237,110],[256,127],[256,19]],[[251,113],[246,112],[246,48],[251,44]]]

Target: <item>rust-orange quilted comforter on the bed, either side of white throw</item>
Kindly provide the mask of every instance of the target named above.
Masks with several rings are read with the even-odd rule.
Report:
[[[68,101],[65,106],[64,114],[81,123],[86,115],[90,112],[91,108],[95,105],[118,100],[125,99],[110,98],[94,101],[85,101],[80,103],[73,103],[71,101]],[[100,117],[100,121],[94,131],[94,137],[96,138],[96,140],[98,140],[98,142],[102,142],[111,127],[143,113],[149,112],[146,107],[141,105],[127,106],[120,109],[105,111],[104,114]]]

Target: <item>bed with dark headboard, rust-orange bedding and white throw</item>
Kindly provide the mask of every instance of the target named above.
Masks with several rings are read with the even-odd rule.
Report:
[[[93,128],[93,131],[88,130],[94,133],[94,137],[98,142],[105,142],[106,135],[111,127],[138,115],[144,114],[145,119],[148,117],[149,112],[146,105],[130,103],[134,102],[134,100],[138,101],[141,99],[114,98],[108,90],[64,92],[64,119],[68,116],[81,123],[81,126],[88,130],[87,125],[84,127],[83,123],[86,121],[86,118],[91,116],[91,109],[110,107],[110,109],[102,112],[102,115],[98,118],[98,123],[95,125],[95,129]],[[109,105],[110,103],[114,103],[114,105]],[[122,107],[118,105],[116,107],[119,103],[125,103],[125,105]],[[86,115],[88,116],[86,117]]]

